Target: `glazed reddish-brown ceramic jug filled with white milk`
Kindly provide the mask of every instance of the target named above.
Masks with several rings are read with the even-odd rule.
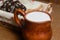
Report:
[[[24,17],[24,27],[18,14]],[[51,16],[46,12],[32,11],[25,13],[21,9],[14,12],[15,22],[20,26],[24,40],[50,40],[52,36]]]

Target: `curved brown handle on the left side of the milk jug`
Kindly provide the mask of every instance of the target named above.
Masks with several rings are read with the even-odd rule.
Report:
[[[15,22],[18,24],[18,26],[22,27],[22,22],[21,22],[21,19],[18,18],[18,14],[21,14],[23,17],[25,16],[25,12],[22,11],[21,9],[16,9],[14,11],[14,20]]]

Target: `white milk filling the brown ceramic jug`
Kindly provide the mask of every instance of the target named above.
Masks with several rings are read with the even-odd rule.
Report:
[[[51,18],[48,14],[44,12],[31,12],[26,15],[26,19],[33,22],[45,22],[51,21]]]

